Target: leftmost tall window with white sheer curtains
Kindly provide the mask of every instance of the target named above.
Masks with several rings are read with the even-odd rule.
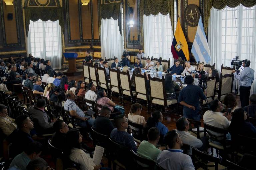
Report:
[[[58,20],[30,20],[27,44],[27,51],[34,57],[50,60],[53,69],[61,68],[61,27]]]

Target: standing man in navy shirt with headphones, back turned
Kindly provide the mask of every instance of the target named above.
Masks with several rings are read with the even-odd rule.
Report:
[[[187,75],[184,82],[187,86],[181,89],[178,98],[178,102],[184,106],[183,116],[188,119],[200,121],[199,99],[205,100],[206,97],[199,86],[193,85],[194,78],[192,75]]]

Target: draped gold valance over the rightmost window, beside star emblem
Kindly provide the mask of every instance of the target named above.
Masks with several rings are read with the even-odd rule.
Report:
[[[235,8],[242,4],[245,7],[253,7],[256,5],[256,0],[207,0],[204,1],[204,31],[207,34],[208,20],[210,18],[211,8],[222,10],[226,6]]]

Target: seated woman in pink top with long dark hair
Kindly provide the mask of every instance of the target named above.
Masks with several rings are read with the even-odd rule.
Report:
[[[114,111],[114,107],[116,106],[116,104],[107,97],[107,93],[104,89],[98,90],[96,103],[107,106],[111,110],[111,112],[118,112],[117,110]],[[101,108],[98,109],[101,110]]]

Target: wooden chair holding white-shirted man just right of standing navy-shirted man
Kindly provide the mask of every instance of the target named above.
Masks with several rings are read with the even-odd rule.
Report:
[[[203,124],[204,124],[204,136],[211,139],[211,141],[209,142],[209,145],[211,147],[212,154],[213,154],[213,148],[215,148],[217,156],[219,155],[218,150],[223,150],[224,156],[226,156],[227,148],[230,147],[230,145],[228,145],[226,141],[226,135],[228,134],[228,130],[223,128],[216,128],[206,123],[203,123]],[[221,135],[216,136],[212,132],[220,133]],[[207,136],[206,134],[208,134],[209,136]],[[221,145],[218,145],[213,141],[219,142]]]

